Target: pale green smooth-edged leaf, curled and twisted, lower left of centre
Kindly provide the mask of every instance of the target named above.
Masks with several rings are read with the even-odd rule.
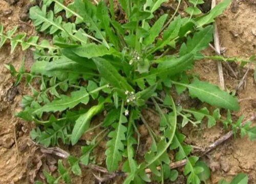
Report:
[[[91,119],[101,112],[103,110],[103,103],[100,103],[99,105],[91,107],[86,113],[84,113],[82,116],[80,116],[75,123],[75,126],[72,131],[71,135],[71,143],[72,145],[75,145],[80,137],[83,135],[83,133],[88,130],[90,127]]]

